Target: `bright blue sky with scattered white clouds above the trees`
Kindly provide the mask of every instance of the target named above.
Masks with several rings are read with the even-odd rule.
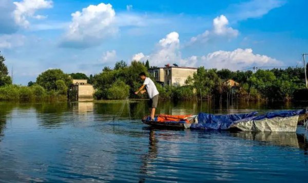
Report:
[[[305,0],[0,0],[13,83],[48,69],[98,74],[124,60],[206,69],[302,66]]]

